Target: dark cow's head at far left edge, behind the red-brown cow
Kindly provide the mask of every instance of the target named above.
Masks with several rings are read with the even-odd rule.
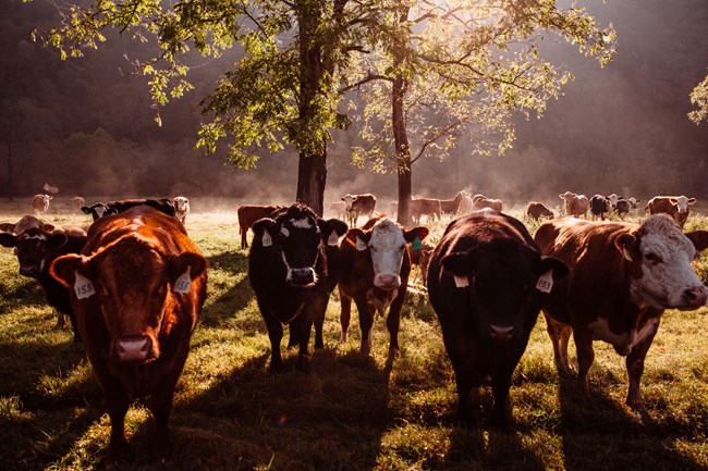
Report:
[[[53,225],[42,224],[40,227],[29,227],[20,235],[0,234],[0,245],[14,247],[21,275],[37,277],[49,270],[49,263],[56,257],[53,253],[68,240],[65,234],[53,233]]]

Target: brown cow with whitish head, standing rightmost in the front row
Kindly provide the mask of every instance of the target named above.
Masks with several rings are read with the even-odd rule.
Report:
[[[534,238],[544,255],[571,268],[542,307],[559,372],[570,372],[572,333],[577,382],[589,391],[593,342],[607,342],[626,357],[627,406],[646,413],[640,379],[661,314],[664,309],[697,309],[708,299],[708,288],[691,265],[697,251],[708,247],[708,232],[684,235],[667,214],[640,224],[565,218],[541,224]]]

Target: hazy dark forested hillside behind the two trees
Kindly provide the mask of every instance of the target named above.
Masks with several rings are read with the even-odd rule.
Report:
[[[703,0],[583,2],[618,30],[618,53],[605,69],[570,45],[542,52],[576,79],[540,120],[518,119],[517,139],[503,156],[472,156],[464,139],[450,159],[413,168],[413,193],[449,198],[459,189],[513,202],[556,200],[565,190],[708,197],[708,128],[687,117],[688,95],[708,67],[708,4]],[[0,196],[27,196],[49,182],[61,196],[176,195],[290,200],[293,150],[264,151],[255,170],[237,170],[219,154],[194,149],[199,101],[236,53],[197,55],[196,89],[159,110],[131,60],[150,45],[114,32],[98,51],[61,61],[32,41],[56,25],[47,2],[0,0]],[[118,39],[118,40],[115,40]],[[155,122],[159,111],[161,126]],[[335,132],[328,153],[326,199],[373,191],[395,198],[395,175],[350,163],[354,131]],[[11,165],[8,165],[11,159]],[[12,174],[10,188],[8,174]]]

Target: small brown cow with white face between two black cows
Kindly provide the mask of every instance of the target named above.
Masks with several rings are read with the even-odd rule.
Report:
[[[428,228],[405,230],[388,216],[371,219],[362,227],[350,228],[340,244],[339,275],[341,343],[346,342],[352,300],[356,303],[362,331],[359,351],[371,351],[371,327],[378,311],[388,315],[389,358],[399,350],[401,308],[405,300],[411,260],[406,244],[417,246],[428,236]]]

